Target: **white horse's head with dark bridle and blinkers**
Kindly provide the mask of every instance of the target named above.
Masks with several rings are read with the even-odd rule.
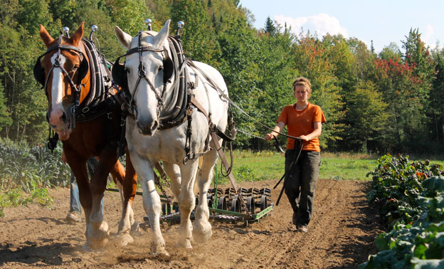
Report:
[[[169,97],[171,84],[167,84],[174,74],[167,40],[169,22],[166,21],[159,33],[143,31],[134,38],[115,26],[117,39],[128,51],[125,65],[114,65],[113,78],[129,91],[131,108],[142,135],[154,135],[164,100]]]

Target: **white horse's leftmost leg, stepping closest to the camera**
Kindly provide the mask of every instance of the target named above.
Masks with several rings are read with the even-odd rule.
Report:
[[[145,213],[149,218],[149,226],[152,231],[152,252],[155,254],[169,255],[165,250],[165,241],[160,232],[160,196],[157,194],[154,184],[153,164],[147,159],[141,157],[137,152],[131,153],[131,160],[134,169],[138,172],[137,177],[140,179],[142,186],[143,205]]]

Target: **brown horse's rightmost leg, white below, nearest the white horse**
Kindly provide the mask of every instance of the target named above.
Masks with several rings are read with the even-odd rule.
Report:
[[[120,218],[117,237],[120,238],[122,246],[132,243],[134,240],[131,235],[139,235],[139,223],[134,220],[134,211],[132,211],[132,201],[137,191],[137,176],[132,166],[131,158],[127,152],[127,171],[123,180],[123,201],[122,218]]]

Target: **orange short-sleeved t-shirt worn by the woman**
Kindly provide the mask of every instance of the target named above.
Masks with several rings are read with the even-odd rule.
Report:
[[[304,110],[296,110],[295,105],[286,105],[276,122],[284,122],[288,127],[288,135],[292,137],[300,137],[308,135],[314,131],[314,122],[325,122],[324,112],[318,105],[312,105],[310,102]],[[287,149],[295,148],[295,139],[287,138]],[[304,141],[302,150],[321,152],[319,147],[319,139],[315,138],[310,141]]]

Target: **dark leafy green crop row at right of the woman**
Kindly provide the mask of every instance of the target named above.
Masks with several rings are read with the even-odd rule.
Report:
[[[380,252],[360,268],[444,268],[444,170],[389,154],[370,172],[367,199],[388,223],[376,238]]]

